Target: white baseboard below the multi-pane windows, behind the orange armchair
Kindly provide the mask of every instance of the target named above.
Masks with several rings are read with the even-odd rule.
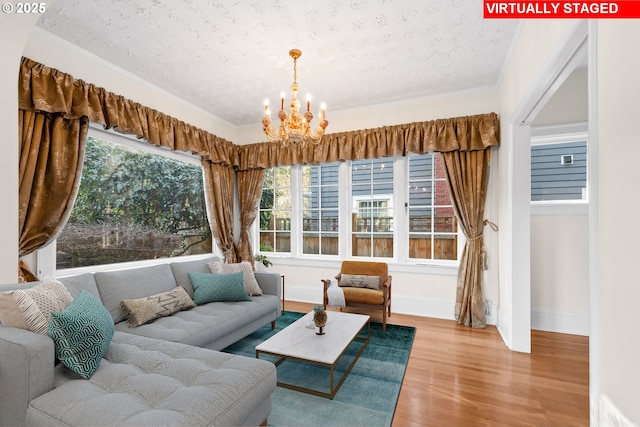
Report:
[[[322,304],[322,290],[320,289],[287,286],[285,292],[287,300]],[[490,307],[491,315],[487,315],[487,324],[496,325],[498,323],[498,309],[495,304],[490,304]],[[454,310],[455,301],[441,298],[416,298],[394,295],[391,301],[391,312],[398,314],[455,320]]]

